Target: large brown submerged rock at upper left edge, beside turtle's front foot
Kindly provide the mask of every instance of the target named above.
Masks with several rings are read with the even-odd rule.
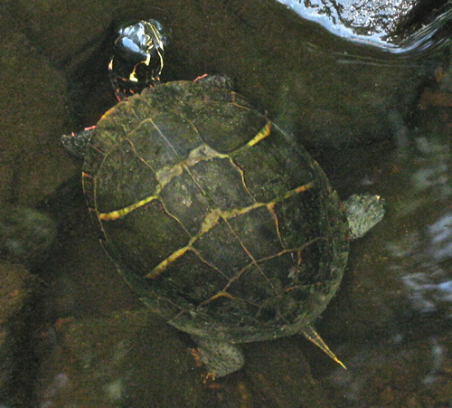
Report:
[[[0,196],[33,208],[75,168],[59,144],[66,81],[7,20],[5,5],[0,12]]]

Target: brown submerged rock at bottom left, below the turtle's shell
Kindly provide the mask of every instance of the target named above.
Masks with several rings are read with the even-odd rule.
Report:
[[[148,310],[61,319],[47,336],[39,406],[199,406],[193,357]]]

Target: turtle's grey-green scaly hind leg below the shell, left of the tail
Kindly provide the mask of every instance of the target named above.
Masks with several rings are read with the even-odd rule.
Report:
[[[226,341],[192,336],[198,346],[197,357],[213,378],[222,377],[240,370],[245,363],[239,346]]]

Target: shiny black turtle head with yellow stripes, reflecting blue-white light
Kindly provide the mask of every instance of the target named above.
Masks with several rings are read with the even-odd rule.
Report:
[[[141,92],[159,81],[168,42],[155,20],[123,25],[118,31],[108,73],[118,100]]]

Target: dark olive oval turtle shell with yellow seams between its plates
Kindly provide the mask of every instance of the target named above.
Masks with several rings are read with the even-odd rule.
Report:
[[[348,225],[324,172],[230,90],[175,81],[118,103],[89,142],[83,188],[125,280],[193,335],[294,334],[342,279]]]

